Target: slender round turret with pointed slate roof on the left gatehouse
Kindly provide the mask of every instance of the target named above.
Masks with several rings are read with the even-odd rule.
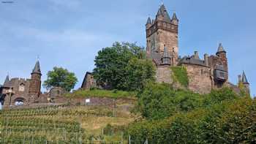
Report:
[[[41,92],[41,70],[39,61],[37,61],[36,65],[34,66],[33,71],[31,72],[31,81],[29,85],[29,96],[31,97],[39,97]]]

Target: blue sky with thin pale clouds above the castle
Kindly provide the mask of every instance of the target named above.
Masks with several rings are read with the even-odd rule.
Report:
[[[5,1],[5,2],[4,2]],[[9,2],[6,2],[9,1]],[[256,95],[255,0],[0,0],[0,83],[30,77],[39,61],[42,81],[53,67],[75,72],[79,88],[94,58],[113,42],[146,45],[145,24],[163,2],[179,19],[179,55],[195,50],[215,54],[219,42],[227,51],[229,80],[246,72]],[[43,89],[45,91],[45,89]]]

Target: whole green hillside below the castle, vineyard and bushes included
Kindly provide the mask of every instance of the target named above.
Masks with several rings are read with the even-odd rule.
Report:
[[[67,105],[0,111],[0,143],[256,142],[256,101],[230,88],[196,94],[148,83],[136,97],[105,90],[67,97]]]

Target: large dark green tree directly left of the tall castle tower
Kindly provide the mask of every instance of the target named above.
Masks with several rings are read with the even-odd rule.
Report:
[[[116,42],[103,48],[95,58],[95,66],[94,77],[103,88],[134,91],[147,79],[154,78],[154,68],[146,60],[145,51],[135,43]]]

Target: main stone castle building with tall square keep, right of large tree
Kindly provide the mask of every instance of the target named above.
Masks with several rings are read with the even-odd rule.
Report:
[[[239,91],[238,86],[228,81],[227,52],[221,43],[215,55],[205,54],[203,59],[200,59],[197,51],[192,56],[178,56],[178,18],[176,13],[170,18],[164,4],[159,7],[155,19],[147,20],[146,44],[148,57],[152,58],[157,67],[159,83],[173,83],[170,68],[183,66],[187,68],[188,88],[192,91],[203,94],[223,86]],[[244,72],[238,81],[249,91]]]

